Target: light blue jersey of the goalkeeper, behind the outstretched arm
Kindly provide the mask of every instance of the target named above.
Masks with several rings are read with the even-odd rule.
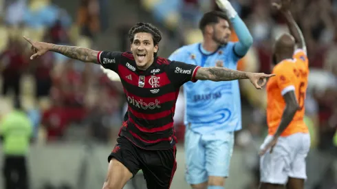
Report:
[[[235,43],[228,43],[212,53],[206,54],[201,43],[177,49],[168,59],[201,67],[222,65],[237,69],[237,56],[233,52]],[[241,100],[238,80],[213,82],[198,80],[186,82],[184,123],[190,124],[197,133],[212,133],[218,130],[241,129]]]

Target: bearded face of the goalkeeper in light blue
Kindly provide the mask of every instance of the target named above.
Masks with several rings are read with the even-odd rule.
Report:
[[[213,26],[213,40],[219,45],[225,45],[230,40],[230,34],[228,21],[219,18],[219,22]]]

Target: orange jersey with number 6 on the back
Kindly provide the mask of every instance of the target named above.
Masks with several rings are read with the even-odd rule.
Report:
[[[267,122],[269,135],[276,133],[281,122],[285,109],[283,95],[292,90],[296,93],[300,109],[281,136],[309,132],[303,120],[305,92],[307,91],[307,77],[309,75],[307,55],[302,49],[297,49],[292,58],[277,64],[272,71],[272,74],[276,74],[276,76],[268,80]]]

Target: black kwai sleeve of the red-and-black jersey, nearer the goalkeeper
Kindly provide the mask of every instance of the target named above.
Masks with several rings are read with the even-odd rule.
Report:
[[[184,85],[185,82],[196,82],[195,75],[199,66],[190,65],[178,61],[172,61],[168,69],[168,77],[177,87]]]

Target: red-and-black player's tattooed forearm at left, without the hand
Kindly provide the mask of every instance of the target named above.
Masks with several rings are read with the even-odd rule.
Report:
[[[74,58],[87,63],[97,63],[98,51],[83,47],[73,47],[73,46],[63,46],[63,45],[52,45],[52,52],[58,52],[69,58]]]

